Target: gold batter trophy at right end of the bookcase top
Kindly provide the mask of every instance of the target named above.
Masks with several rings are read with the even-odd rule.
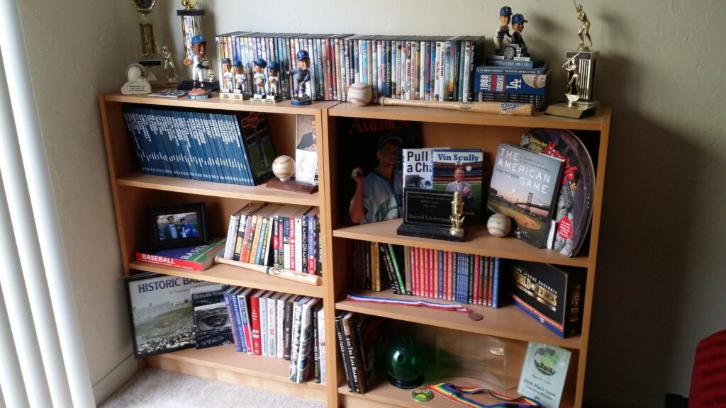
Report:
[[[590,20],[582,9],[582,4],[575,0],[575,11],[580,26],[577,36],[580,44],[576,51],[568,51],[565,54],[567,60],[562,68],[567,72],[567,102],[557,103],[547,107],[544,113],[548,115],[563,116],[566,118],[582,119],[595,113],[597,101],[592,99],[592,91],[595,88],[595,63],[600,52],[593,51],[592,38],[590,37]],[[587,43],[585,41],[587,38]]]

